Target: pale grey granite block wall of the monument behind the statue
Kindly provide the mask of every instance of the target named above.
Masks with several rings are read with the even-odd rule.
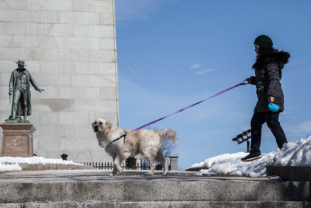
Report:
[[[15,62],[25,60],[45,89],[30,86],[34,153],[112,161],[90,124],[103,117],[119,125],[114,0],[0,1],[0,14],[0,123],[11,114]]]

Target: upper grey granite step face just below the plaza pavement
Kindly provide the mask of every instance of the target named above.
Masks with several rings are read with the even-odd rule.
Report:
[[[310,201],[309,182],[96,181],[0,183],[0,202]]]

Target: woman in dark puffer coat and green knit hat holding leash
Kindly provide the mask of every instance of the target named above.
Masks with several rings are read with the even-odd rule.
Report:
[[[247,82],[256,85],[258,102],[251,120],[251,150],[250,154],[241,159],[247,162],[262,157],[260,153],[262,124],[267,123],[276,139],[277,146],[281,149],[287,143],[285,133],[279,122],[279,113],[284,110],[284,95],[281,88],[282,69],[288,63],[290,54],[278,51],[272,47],[273,42],[266,35],[258,36],[254,41],[256,62],[253,65],[255,76],[247,79]],[[272,112],[268,104],[272,102],[280,107],[277,112]]]

